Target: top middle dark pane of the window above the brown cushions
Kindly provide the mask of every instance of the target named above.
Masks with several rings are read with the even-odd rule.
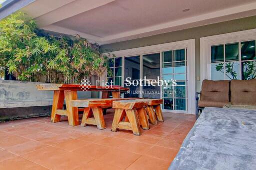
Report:
[[[238,60],[238,42],[225,44],[225,61]]]

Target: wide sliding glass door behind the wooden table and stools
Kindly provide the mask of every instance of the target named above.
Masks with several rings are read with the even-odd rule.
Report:
[[[115,58],[111,69],[114,73],[108,80],[113,79],[114,84],[130,88],[130,91],[124,94],[125,98],[162,98],[162,109],[165,111],[187,111],[185,48]],[[119,69],[122,69],[122,72]],[[165,80],[165,84],[159,85],[159,79]],[[176,84],[173,85],[172,80]]]

